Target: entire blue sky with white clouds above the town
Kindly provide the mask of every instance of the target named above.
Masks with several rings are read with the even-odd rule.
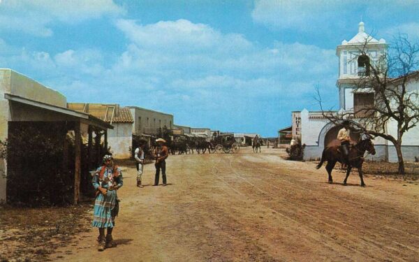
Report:
[[[337,108],[337,45],[418,41],[419,0],[0,0],[0,67],[68,102],[136,105],[175,124],[277,136]]]

